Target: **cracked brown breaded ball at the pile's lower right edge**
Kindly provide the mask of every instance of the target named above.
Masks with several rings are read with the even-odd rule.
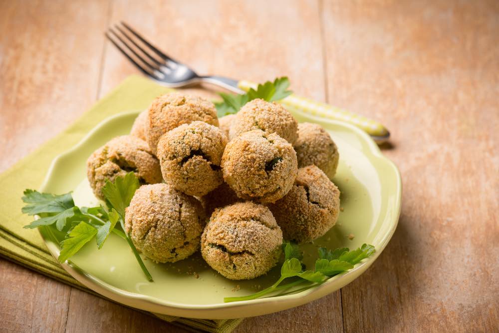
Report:
[[[340,191],[315,165],[298,169],[291,190],[268,205],[284,239],[311,242],[331,229],[340,209]]]

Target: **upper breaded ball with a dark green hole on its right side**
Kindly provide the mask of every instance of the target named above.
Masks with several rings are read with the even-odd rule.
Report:
[[[293,185],[296,152],[275,133],[257,129],[231,140],[224,151],[224,179],[238,197],[261,203],[275,202]]]

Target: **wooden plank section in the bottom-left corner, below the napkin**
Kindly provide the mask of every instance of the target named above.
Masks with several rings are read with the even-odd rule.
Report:
[[[64,332],[71,287],[0,259],[0,332]]]

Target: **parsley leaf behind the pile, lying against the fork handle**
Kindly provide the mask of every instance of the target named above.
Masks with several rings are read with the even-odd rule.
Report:
[[[246,103],[256,98],[269,102],[283,99],[292,93],[291,90],[287,90],[288,87],[289,80],[283,76],[276,78],[273,82],[266,81],[263,84],[258,84],[256,90],[250,88],[247,93],[242,95],[221,92],[219,95],[222,97],[222,101],[215,103],[217,114],[219,117],[223,117],[227,114],[238,113]]]

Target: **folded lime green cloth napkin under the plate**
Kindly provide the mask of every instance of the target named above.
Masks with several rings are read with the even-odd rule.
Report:
[[[59,266],[57,260],[49,254],[37,231],[22,228],[31,222],[30,217],[21,213],[22,191],[26,188],[39,188],[55,156],[77,144],[100,121],[117,113],[145,109],[156,96],[171,90],[144,77],[130,76],[66,130],[3,172],[0,175],[0,255],[72,287],[97,295]],[[229,333],[243,321],[152,315],[192,332]]]

